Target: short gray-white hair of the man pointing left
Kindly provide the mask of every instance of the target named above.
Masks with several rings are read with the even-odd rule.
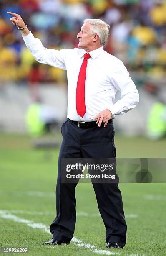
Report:
[[[99,19],[86,19],[84,20],[84,23],[89,23],[92,25],[90,27],[90,32],[92,35],[98,34],[101,45],[106,44],[110,28],[106,22]]]

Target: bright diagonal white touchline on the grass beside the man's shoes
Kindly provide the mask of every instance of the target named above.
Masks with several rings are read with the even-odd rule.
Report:
[[[9,219],[9,220],[13,220],[15,222],[18,223],[25,223],[27,226],[31,227],[31,228],[40,228],[41,230],[44,230],[45,232],[50,234],[50,229],[44,225],[43,223],[33,223],[30,220],[25,220],[23,218],[19,218],[11,213],[7,213],[6,211],[0,210],[0,217],[4,218],[4,219]],[[72,238],[71,240],[72,243],[75,244],[75,246],[78,247],[83,247],[83,248],[88,248],[90,249],[93,253],[97,253],[97,254],[105,254],[105,255],[120,255],[120,253],[115,253],[112,251],[106,251],[106,250],[99,250],[97,248],[97,246],[95,245],[91,245],[88,243],[83,243],[83,241],[81,241],[80,239],[77,239],[75,237]]]

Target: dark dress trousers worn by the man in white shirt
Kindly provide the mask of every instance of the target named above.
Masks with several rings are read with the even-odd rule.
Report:
[[[67,120],[61,132],[63,141],[58,160],[56,187],[57,216],[50,226],[53,238],[70,242],[76,221],[76,183],[61,183],[62,158],[115,158],[113,122],[106,127],[79,128]],[[123,212],[121,191],[116,183],[93,183],[98,209],[106,227],[106,242],[126,244],[126,221]]]

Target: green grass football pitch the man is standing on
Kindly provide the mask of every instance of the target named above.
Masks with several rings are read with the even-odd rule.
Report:
[[[116,148],[121,158],[166,157],[165,140],[118,135]],[[74,237],[80,241],[43,246],[52,237],[46,228],[55,218],[57,160],[58,149],[45,153],[28,136],[0,134],[0,247],[28,247],[29,255],[166,255],[166,184],[120,184],[128,225],[123,250],[105,248],[92,185],[78,184]]]

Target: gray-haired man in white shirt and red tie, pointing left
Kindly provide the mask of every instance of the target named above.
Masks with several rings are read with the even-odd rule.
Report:
[[[46,244],[68,244],[75,229],[76,183],[61,182],[61,159],[115,159],[112,119],[138,104],[138,91],[123,63],[103,50],[109,25],[102,20],[86,19],[77,35],[78,48],[58,51],[45,49],[20,15],[8,13],[13,15],[10,20],[18,26],[26,46],[38,62],[67,70],[68,120],[61,128],[63,141],[58,161],[57,216],[50,227],[53,238]],[[115,102],[117,90],[121,92],[121,100]],[[107,247],[123,248],[126,221],[118,183],[93,183],[93,188],[106,227]]]

